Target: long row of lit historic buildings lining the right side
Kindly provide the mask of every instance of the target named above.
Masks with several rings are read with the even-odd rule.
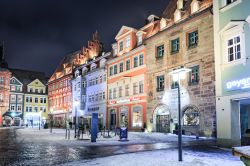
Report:
[[[185,134],[241,144],[250,128],[248,6],[171,0],[143,27],[122,26],[107,53],[95,33],[48,80],[49,114],[57,126],[68,119],[90,125],[98,113],[106,128],[173,132],[179,87]],[[187,72],[173,75],[180,70]]]

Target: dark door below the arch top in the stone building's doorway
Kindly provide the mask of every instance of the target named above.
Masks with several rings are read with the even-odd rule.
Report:
[[[170,118],[169,115],[156,116],[156,131],[157,132],[170,132]]]

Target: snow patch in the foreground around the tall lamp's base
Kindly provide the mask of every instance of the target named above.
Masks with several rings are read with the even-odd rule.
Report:
[[[219,153],[204,155],[200,152],[185,151],[183,161],[178,161],[177,150],[158,150],[130,153],[93,160],[82,160],[61,166],[244,166],[238,157],[220,156]]]

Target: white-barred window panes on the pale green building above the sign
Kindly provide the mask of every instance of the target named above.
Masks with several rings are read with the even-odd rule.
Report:
[[[227,41],[228,62],[241,59],[240,36],[233,37]]]

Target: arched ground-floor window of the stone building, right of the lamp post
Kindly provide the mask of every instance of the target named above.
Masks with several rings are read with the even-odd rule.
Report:
[[[200,124],[200,113],[197,107],[188,106],[184,110],[183,125],[196,126]]]

